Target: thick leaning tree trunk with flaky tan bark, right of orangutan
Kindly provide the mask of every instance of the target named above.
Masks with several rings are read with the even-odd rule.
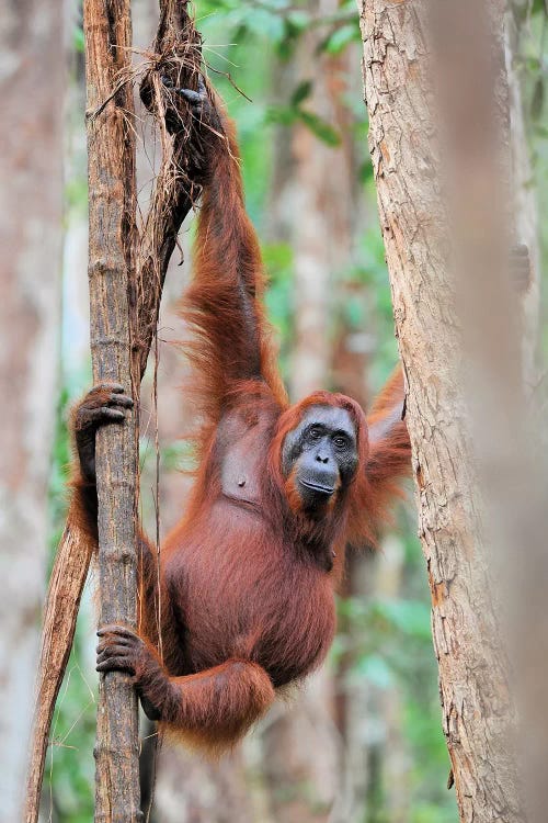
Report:
[[[419,0],[361,3],[369,149],[408,384],[419,530],[460,819],[516,823],[524,813],[509,748],[512,703],[484,554],[439,158],[432,139],[426,5]],[[486,53],[489,48],[486,43]],[[473,126],[475,114],[468,112],[470,120],[460,125]],[[473,145],[468,140],[465,148],[475,160]],[[477,179],[481,182],[481,176]]]

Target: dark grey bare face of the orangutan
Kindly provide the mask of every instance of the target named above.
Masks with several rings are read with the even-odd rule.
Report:
[[[305,508],[324,505],[347,486],[357,463],[352,417],[334,406],[310,406],[282,447],[282,471],[294,473]]]

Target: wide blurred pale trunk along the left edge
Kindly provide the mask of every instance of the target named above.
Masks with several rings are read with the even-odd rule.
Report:
[[[5,823],[22,816],[47,551],[60,314],[62,30],[60,2],[25,0],[2,9],[0,816]]]

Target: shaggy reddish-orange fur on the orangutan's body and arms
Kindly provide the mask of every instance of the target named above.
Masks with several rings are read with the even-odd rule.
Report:
[[[367,419],[357,403],[329,392],[288,406],[237,145],[231,124],[222,125],[227,138],[212,149],[194,279],[182,303],[194,336],[199,469],[186,514],[162,548],[160,627],[155,557],[141,544],[147,645],[136,666],[137,687],[162,722],[209,754],[232,745],[275,689],[321,664],[335,630],[333,590],[345,545],[374,541],[393,481],[409,466],[400,376]],[[318,404],[349,412],[359,463],[350,485],[311,516],[301,510],[292,475],[282,474],[281,452]],[[87,498],[80,504],[93,519]]]

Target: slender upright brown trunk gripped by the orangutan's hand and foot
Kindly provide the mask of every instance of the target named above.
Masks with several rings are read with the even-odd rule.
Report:
[[[93,380],[121,383],[135,397],[129,318],[136,297],[133,89],[128,82],[119,86],[130,59],[129,1],[87,0],[83,12]],[[101,625],[137,625],[136,470],[135,419],[100,429]],[[113,672],[100,677],[95,759],[95,820],[139,820],[137,695],[127,674]]]

